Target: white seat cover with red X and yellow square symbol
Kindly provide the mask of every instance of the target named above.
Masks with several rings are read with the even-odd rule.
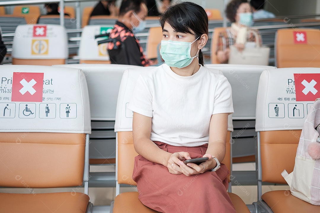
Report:
[[[67,59],[68,38],[60,25],[19,25],[16,28],[12,57],[18,59]]]

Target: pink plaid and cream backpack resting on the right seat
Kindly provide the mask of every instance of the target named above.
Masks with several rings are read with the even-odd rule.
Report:
[[[320,141],[319,128],[317,128],[319,124],[320,99],[318,98],[311,106],[304,123],[293,172],[288,174],[284,170],[281,173],[289,184],[293,196],[318,206],[320,205],[320,159],[312,159],[308,153],[308,147],[311,143]]]

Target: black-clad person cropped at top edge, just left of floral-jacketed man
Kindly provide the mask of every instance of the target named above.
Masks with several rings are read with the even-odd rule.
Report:
[[[90,16],[103,16],[103,15],[118,15],[118,8],[116,7],[116,1],[100,1],[91,12]]]

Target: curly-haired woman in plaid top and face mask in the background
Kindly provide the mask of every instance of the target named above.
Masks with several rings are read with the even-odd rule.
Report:
[[[231,45],[242,51],[245,42],[255,42],[254,35],[248,34],[252,25],[252,10],[247,0],[232,0],[227,5],[226,14],[232,22],[231,27],[220,33],[216,49],[216,55],[222,64],[228,64]]]

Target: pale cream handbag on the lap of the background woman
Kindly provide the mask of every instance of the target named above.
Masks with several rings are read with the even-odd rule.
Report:
[[[232,45],[230,46],[230,55],[228,64],[243,64],[243,65],[268,65],[270,48],[260,46],[260,37],[255,31],[248,31],[255,36],[255,47],[245,47],[242,52]]]

